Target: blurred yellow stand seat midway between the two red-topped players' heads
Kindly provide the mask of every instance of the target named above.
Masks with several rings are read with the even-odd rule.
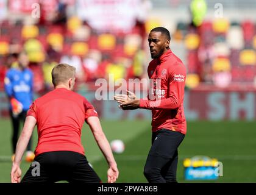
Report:
[[[116,45],[116,38],[112,34],[101,34],[98,37],[98,47],[100,50],[113,50]]]

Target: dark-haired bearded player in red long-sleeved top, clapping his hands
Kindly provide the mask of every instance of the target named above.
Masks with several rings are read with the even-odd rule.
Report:
[[[123,110],[144,108],[152,111],[152,146],[144,176],[149,182],[177,182],[178,147],[187,132],[183,99],[186,68],[169,48],[171,36],[164,27],[149,34],[152,61],[148,66],[150,87],[148,99],[135,94],[116,94],[115,100]]]

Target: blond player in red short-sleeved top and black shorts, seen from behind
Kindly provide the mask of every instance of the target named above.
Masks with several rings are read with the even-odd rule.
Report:
[[[27,112],[23,132],[16,146],[11,179],[12,182],[101,182],[89,165],[81,143],[84,121],[108,162],[108,182],[115,182],[118,169],[110,144],[102,131],[93,105],[73,90],[76,69],[67,64],[52,69],[54,90],[36,99]],[[21,180],[20,162],[32,131],[37,124],[38,144],[35,149],[34,166]],[[34,164],[35,165],[35,164]]]

